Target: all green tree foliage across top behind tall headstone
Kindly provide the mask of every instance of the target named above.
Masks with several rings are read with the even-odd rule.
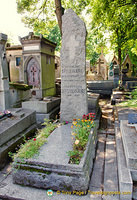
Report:
[[[72,8],[87,27],[87,59],[95,64],[107,42],[122,60],[126,53],[137,66],[137,24],[135,0],[62,0],[63,8]],[[17,0],[17,10],[23,22],[36,34],[57,43],[60,50],[61,36],[57,25],[54,0]],[[127,52],[128,50],[128,52]],[[118,54],[119,52],[119,54]]]

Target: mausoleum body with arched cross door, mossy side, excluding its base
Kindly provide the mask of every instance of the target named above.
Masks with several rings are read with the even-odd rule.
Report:
[[[32,97],[42,99],[55,95],[56,44],[32,32],[21,38],[24,82],[32,85]]]

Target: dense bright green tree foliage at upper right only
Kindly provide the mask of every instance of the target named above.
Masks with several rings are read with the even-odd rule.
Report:
[[[109,40],[115,51],[122,52],[118,54],[119,59],[123,56],[127,49],[136,55],[135,40],[137,38],[136,10],[135,1],[119,1],[119,0],[92,0],[91,8],[88,12],[92,12],[92,28],[97,34],[109,32]],[[134,42],[133,42],[134,41]],[[127,53],[127,52],[126,52]],[[136,57],[137,60],[137,57]]]

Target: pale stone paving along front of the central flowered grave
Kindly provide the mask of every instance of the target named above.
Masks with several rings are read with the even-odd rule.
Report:
[[[98,189],[93,188],[92,191]],[[82,195],[78,192],[76,195],[76,191],[71,193],[64,190],[53,191],[53,196],[48,196],[47,190],[13,184],[10,174],[0,183],[0,199],[4,200],[4,197],[9,197],[10,200],[101,200],[101,197],[97,198],[97,195],[90,193]]]

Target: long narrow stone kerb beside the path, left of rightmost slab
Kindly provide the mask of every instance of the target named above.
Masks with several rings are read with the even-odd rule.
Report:
[[[131,192],[129,195],[120,195],[120,200],[131,200],[133,182],[130,170],[127,168],[126,159],[124,155],[124,149],[122,144],[122,136],[118,123],[115,122],[115,134],[116,134],[116,150],[117,150],[117,163],[118,163],[118,177],[119,177],[119,190],[120,192]]]

